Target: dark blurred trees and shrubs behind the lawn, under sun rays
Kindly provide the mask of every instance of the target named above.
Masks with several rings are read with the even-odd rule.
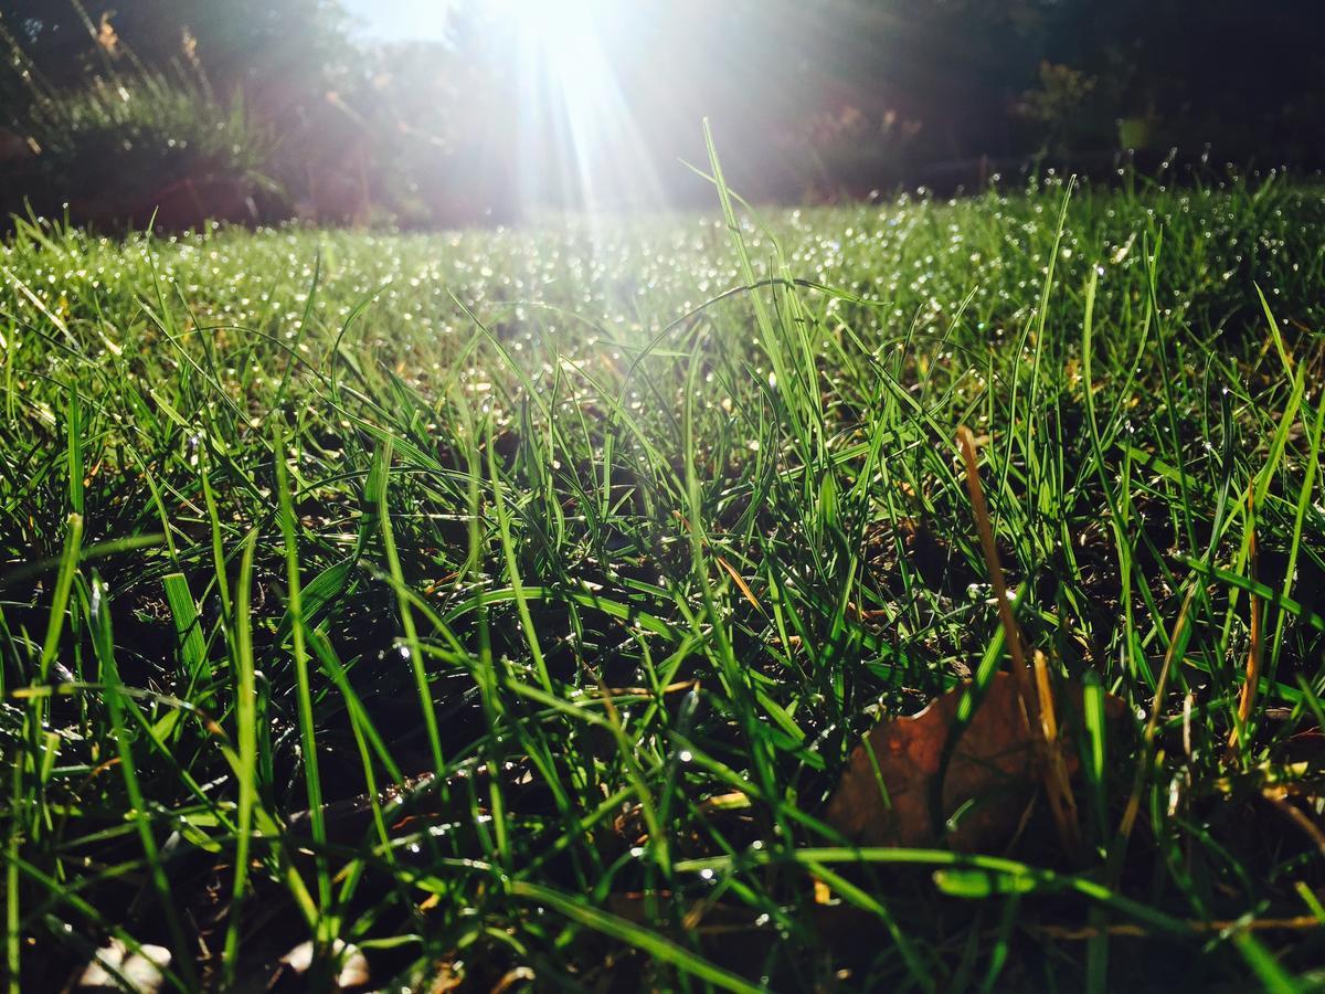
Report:
[[[823,201],[973,188],[1030,163],[1325,162],[1304,0],[635,0],[595,4],[647,205],[733,186]],[[518,5],[452,0],[376,41],[339,0],[0,0],[0,212],[105,229],[204,219],[401,227],[580,207],[564,107],[530,97]],[[517,126],[518,122],[518,126]],[[629,183],[607,196],[632,205]],[[615,201],[619,201],[613,204]]]

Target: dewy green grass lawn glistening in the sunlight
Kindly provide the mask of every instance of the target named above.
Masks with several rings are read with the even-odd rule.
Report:
[[[1325,193],[1069,186],[20,224],[9,989],[110,937],[186,990],[309,940],[420,990],[1325,982]],[[1075,851],[1043,802],[980,855],[822,820],[1006,665],[959,425],[1028,648],[1128,705],[1071,733]]]

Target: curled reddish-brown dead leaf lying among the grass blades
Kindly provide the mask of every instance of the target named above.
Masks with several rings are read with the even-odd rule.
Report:
[[[931,814],[939,765],[969,688],[961,684],[918,714],[872,729],[828,802],[829,824],[863,846],[922,847],[946,840],[955,850],[974,851],[1006,843],[1041,782],[1031,729],[1007,673],[994,675],[953,747],[942,783],[942,818]],[[1081,713],[1081,685],[1064,684],[1057,700],[1064,724],[1071,724]],[[1122,708],[1121,700],[1105,696],[1109,717],[1120,716]],[[1075,774],[1073,750],[1065,749],[1063,758],[1068,774]],[[945,831],[946,820],[959,810],[957,826]]]

